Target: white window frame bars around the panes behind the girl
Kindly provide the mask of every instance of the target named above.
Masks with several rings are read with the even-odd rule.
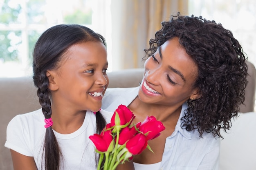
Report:
[[[15,1],[15,0],[13,0]],[[0,61],[0,77],[23,77],[23,76],[31,76],[32,68],[31,64],[29,64],[29,40],[28,40],[28,31],[34,30],[40,33],[43,33],[49,27],[62,24],[62,16],[61,16],[61,8],[59,5],[63,2],[63,0],[45,0],[47,3],[47,9],[53,9],[49,11],[54,11],[54,15],[56,15],[56,20],[48,20],[46,25],[44,24],[28,24],[27,22],[27,0],[16,0],[22,8],[20,13],[20,24],[9,24],[4,25],[0,24],[0,31],[21,31],[22,42],[18,46],[19,55],[18,58],[20,62],[2,62]],[[64,0],[65,1],[65,0]],[[68,0],[66,0],[68,1]],[[109,67],[108,70],[112,70],[112,55],[111,55],[111,12],[110,12],[110,4],[111,0],[90,0],[92,3],[92,24],[85,25],[94,30],[97,33],[103,35],[106,38],[108,45],[108,62]],[[3,2],[2,2],[3,3]],[[45,13],[45,15],[49,15],[47,18],[52,17],[52,13]],[[56,22],[57,21],[57,22]]]

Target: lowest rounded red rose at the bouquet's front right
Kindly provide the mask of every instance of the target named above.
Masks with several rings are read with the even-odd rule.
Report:
[[[142,133],[138,133],[132,139],[126,143],[126,148],[132,155],[140,154],[148,145],[146,136]]]

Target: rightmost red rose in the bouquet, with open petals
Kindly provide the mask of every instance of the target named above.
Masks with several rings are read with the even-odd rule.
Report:
[[[160,135],[160,132],[162,132],[164,129],[165,127],[162,122],[157,121],[154,116],[147,116],[146,119],[139,126],[139,131],[143,132],[144,134],[148,132],[148,135],[146,135],[148,140],[158,137]]]

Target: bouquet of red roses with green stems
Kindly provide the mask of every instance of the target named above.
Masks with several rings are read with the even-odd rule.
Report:
[[[165,129],[153,116],[147,116],[136,125],[132,124],[134,118],[126,106],[120,105],[101,134],[89,137],[100,154],[97,170],[101,169],[104,156],[103,170],[115,170],[119,163],[128,161],[132,155],[140,154],[145,148],[151,150],[148,140],[155,139]]]

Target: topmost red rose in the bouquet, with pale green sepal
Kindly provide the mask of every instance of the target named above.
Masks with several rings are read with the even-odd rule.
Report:
[[[125,125],[128,122],[132,122],[132,120],[135,118],[134,114],[124,105],[119,105],[118,108],[115,110],[114,115],[111,118],[110,124],[111,126],[119,126],[119,125]],[[128,124],[128,126],[130,126]]]

